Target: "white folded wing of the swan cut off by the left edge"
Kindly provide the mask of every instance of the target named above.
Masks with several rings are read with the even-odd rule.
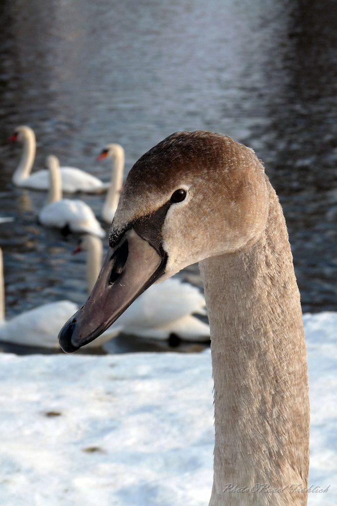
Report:
[[[70,301],[44,304],[0,326],[0,340],[26,346],[59,348],[58,333],[78,309]]]

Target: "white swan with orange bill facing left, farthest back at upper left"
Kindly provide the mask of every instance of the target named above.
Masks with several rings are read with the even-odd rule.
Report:
[[[15,140],[23,143],[23,153],[20,163],[13,174],[13,184],[23,188],[34,190],[48,190],[49,173],[43,169],[30,174],[35,158],[35,134],[29,126],[18,126],[10,141]],[[81,171],[75,167],[61,167],[62,190],[68,193],[78,191],[86,193],[100,193],[109,188],[109,183],[103,183],[100,179]]]

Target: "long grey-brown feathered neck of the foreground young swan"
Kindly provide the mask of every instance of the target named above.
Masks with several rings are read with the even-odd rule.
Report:
[[[262,236],[199,263],[210,323],[215,404],[210,506],[304,506],[309,401],[300,294],[281,206],[269,189]],[[234,492],[267,484],[280,493]]]

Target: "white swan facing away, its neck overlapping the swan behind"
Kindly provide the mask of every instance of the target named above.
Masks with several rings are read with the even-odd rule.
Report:
[[[48,204],[40,211],[39,221],[47,227],[68,227],[71,232],[104,237],[105,232],[88,204],[82,200],[62,198],[59,160],[56,156],[48,156],[47,165],[50,172]]]

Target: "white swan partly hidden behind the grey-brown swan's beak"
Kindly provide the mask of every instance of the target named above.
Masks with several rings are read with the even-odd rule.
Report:
[[[102,241],[94,236],[83,236],[81,249],[87,251],[87,286],[93,289],[102,266]],[[195,286],[179,279],[166,279],[152,285],[112,324],[115,329],[142,338],[167,339],[174,333],[185,341],[207,341],[209,325],[192,313],[205,314],[205,299]]]

